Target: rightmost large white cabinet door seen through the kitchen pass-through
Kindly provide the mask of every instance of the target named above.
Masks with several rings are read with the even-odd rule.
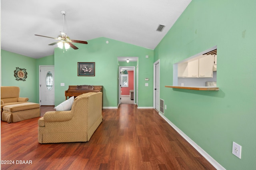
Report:
[[[199,77],[213,76],[214,56],[206,55],[199,59]]]

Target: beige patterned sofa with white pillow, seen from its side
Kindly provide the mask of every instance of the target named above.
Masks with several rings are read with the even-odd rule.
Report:
[[[70,111],[49,111],[38,120],[38,142],[86,142],[102,122],[102,93],[74,99]]]

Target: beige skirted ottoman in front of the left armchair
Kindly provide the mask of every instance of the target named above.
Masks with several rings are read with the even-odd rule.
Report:
[[[38,103],[19,103],[3,107],[2,121],[14,123],[40,117],[40,105]]]

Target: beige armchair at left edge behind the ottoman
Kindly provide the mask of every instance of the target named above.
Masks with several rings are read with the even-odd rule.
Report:
[[[4,106],[26,103],[27,101],[27,97],[20,97],[20,87],[1,86],[1,119]]]

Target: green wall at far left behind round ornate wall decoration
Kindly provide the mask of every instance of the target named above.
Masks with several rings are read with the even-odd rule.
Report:
[[[1,81],[2,86],[20,87],[20,97],[28,97],[30,102],[38,103],[36,100],[36,59],[1,50]],[[26,69],[28,77],[26,81],[17,81],[14,77],[16,67]]]

